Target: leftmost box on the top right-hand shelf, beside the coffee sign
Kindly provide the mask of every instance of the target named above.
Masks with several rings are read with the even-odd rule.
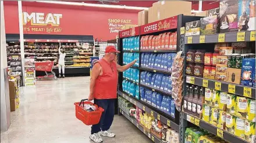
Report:
[[[185,36],[200,35],[200,20],[186,23]]]

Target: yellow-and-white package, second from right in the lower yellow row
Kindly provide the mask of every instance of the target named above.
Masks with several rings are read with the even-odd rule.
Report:
[[[240,138],[244,138],[244,124],[245,120],[239,117],[236,118],[236,122],[234,123],[234,135]]]

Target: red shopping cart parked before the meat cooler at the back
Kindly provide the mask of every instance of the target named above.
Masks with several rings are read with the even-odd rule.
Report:
[[[35,62],[35,71],[44,71],[46,75],[37,76],[36,79],[41,80],[42,78],[55,79],[58,78],[55,75],[55,72],[52,71],[54,67],[54,61],[38,61]]]

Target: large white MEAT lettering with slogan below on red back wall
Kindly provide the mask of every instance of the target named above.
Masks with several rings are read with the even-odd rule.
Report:
[[[24,31],[61,32],[61,19],[60,13],[23,12]]]

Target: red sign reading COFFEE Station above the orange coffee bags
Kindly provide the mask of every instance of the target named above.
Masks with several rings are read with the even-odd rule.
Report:
[[[168,19],[163,19],[155,21],[154,23],[149,23],[140,26],[140,34],[149,34],[152,32],[159,32],[164,30],[171,30],[177,28],[177,16],[170,17]]]

